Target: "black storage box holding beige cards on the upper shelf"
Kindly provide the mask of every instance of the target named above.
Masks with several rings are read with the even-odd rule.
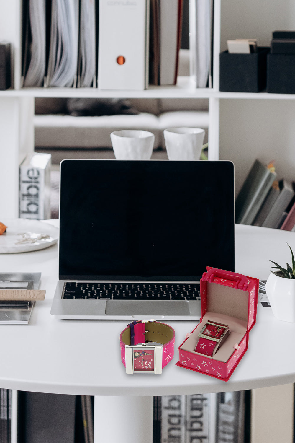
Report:
[[[258,47],[251,54],[219,54],[219,90],[259,92],[266,88],[266,63],[269,47]]]

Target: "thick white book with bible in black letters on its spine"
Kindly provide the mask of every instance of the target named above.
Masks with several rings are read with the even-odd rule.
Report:
[[[50,218],[49,173],[32,165],[19,167],[19,218]]]

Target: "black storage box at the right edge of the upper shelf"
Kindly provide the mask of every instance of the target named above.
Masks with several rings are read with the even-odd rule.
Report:
[[[295,54],[268,54],[267,92],[295,94]]]

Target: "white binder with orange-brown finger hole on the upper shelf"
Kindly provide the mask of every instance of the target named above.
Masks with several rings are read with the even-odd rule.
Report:
[[[146,89],[149,1],[99,0],[98,88]]]

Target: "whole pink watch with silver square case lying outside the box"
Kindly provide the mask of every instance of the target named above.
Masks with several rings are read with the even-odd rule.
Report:
[[[127,374],[161,374],[174,355],[174,329],[156,320],[129,323],[120,334]],[[161,343],[161,344],[159,344]]]

